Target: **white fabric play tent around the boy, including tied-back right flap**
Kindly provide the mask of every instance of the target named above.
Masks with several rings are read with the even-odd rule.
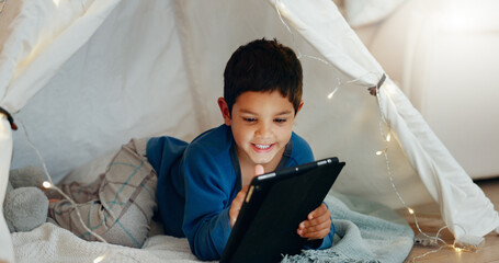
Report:
[[[490,201],[400,90],[387,79],[378,100],[368,94],[383,69],[331,1],[8,1],[0,24],[8,28],[0,33],[0,106],[16,113],[55,181],[132,137],[190,140],[218,125],[230,54],[276,37],[304,67],[305,107],[295,130],[316,158],[347,162],[337,191],[394,208],[402,206],[397,194],[407,205],[433,199],[457,238],[499,226]],[[12,140],[2,123],[3,161]],[[385,141],[381,130],[397,140]],[[13,145],[11,169],[38,164],[22,130]],[[385,148],[389,165],[374,155]],[[8,170],[2,163],[1,198]],[[0,252],[12,261],[10,245]]]

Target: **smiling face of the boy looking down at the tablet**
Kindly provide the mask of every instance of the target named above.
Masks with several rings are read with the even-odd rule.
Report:
[[[288,99],[279,91],[247,91],[237,98],[231,114],[223,98],[218,104],[225,124],[233,129],[240,164],[262,164],[265,171],[274,170],[295,121],[295,108]],[[299,108],[302,105],[303,102]]]

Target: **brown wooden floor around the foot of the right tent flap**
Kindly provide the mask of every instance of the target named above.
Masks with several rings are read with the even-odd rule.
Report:
[[[476,181],[476,184],[481,187],[485,195],[494,203],[496,209],[499,207],[499,178],[491,180]],[[416,209],[415,209],[416,210]],[[420,210],[420,209],[418,209]],[[440,219],[438,207],[427,207],[426,214],[418,215],[417,220],[421,230],[424,232],[435,233],[444,226]],[[417,229],[415,219],[408,213],[404,215],[413,229]],[[419,233],[418,230],[415,232]],[[443,230],[441,237],[447,243],[452,244],[452,235]],[[439,250],[440,249],[440,250]],[[439,250],[439,251],[436,251]],[[412,251],[407,256],[406,263],[411,262],[452,262],[452,263],[486,263],[499,262],[499,235],[491,232],[485,237],[485,242],[478,247],[476,251],[458,251],[451,247],[424,247],[415,244]]]

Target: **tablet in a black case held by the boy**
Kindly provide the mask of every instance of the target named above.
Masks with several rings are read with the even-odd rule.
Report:
[[[220,262],[280,262],[307,239],[298,224],[324,201],[344,162],[328,158],[253,178]]]

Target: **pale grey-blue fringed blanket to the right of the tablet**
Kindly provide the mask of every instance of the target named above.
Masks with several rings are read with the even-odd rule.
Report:
[[[333,245],[284,256],[283,263],[404,262],[413,244],[413,231],[393,209],[378,203],[331,193],[326,197],[336,226]]]

